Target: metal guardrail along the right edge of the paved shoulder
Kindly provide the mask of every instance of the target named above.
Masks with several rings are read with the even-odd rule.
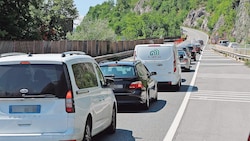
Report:
[[[213,45],[212,49],[219,53],[233,57],[236,60],[250,60],[250,48],[248,47],[229,48],[229,47],[220,46],[220,45]]]

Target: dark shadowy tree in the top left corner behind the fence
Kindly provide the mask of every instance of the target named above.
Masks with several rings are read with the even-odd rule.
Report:
[[[0,39],[35,39],[38,25],[30,13],[30,6],[39,6],[39,0],[4,0],[0,2]]]

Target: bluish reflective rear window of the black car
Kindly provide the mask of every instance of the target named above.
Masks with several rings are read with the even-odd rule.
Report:
[[[101,66],[101,70],[104,76],[115,76],[115,77],[135,76],[134,66],[129,66],[129,65]]]

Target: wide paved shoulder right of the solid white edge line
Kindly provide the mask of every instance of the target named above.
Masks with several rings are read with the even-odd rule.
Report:
[[[177,129],[171,134],[168,132],[164,141],[248,139],[250,68],[243,62],[214,52],[211,47],[206,46],[202,53],[182,119],[175,128],[171,126],[171,130]]]

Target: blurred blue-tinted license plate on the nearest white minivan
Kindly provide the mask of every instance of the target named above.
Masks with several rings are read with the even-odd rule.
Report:
[[[9,113],[40,113],[41,105],[10,105]]]

